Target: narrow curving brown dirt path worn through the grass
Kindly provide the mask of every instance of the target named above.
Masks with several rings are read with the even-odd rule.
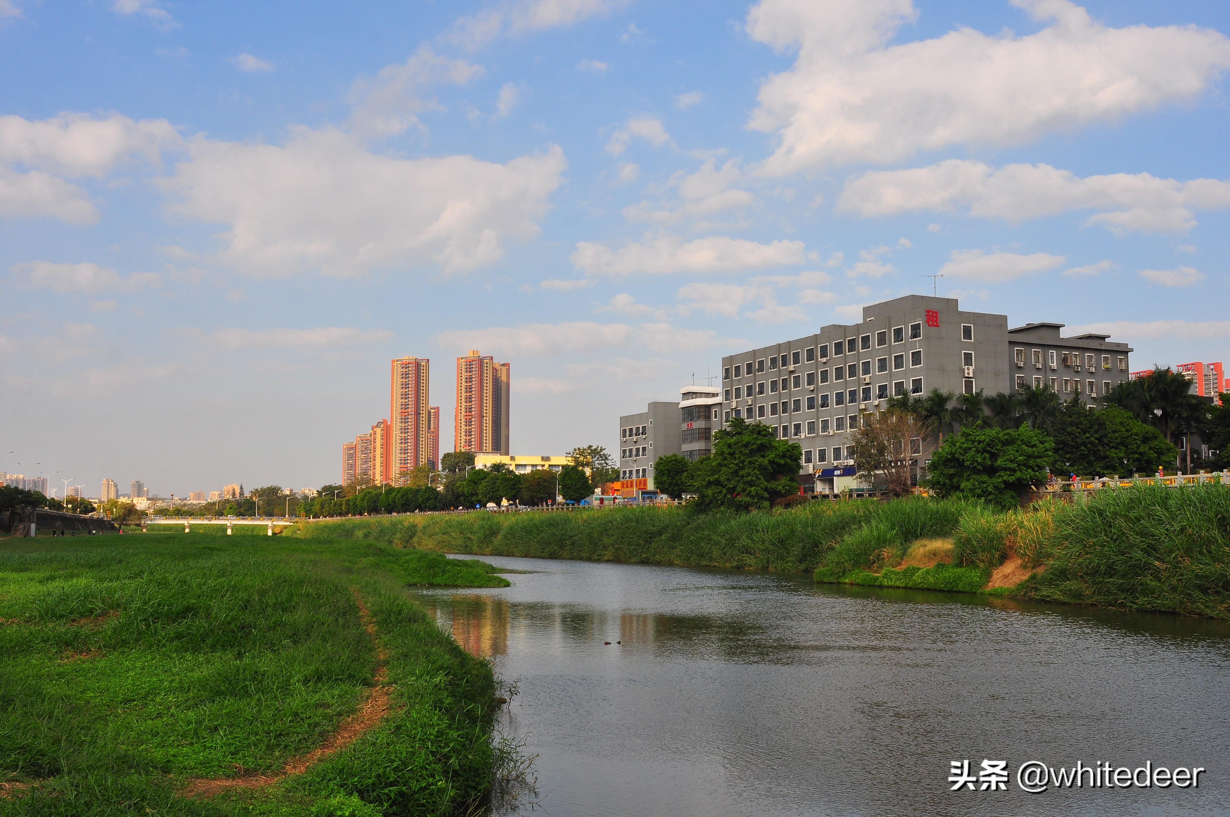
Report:
[[[359,591],[351,588],[354,594],[354,603],[359,605],[359,620],[363,621],[363,629],[368,631],[368,637],[371,639],[371,646],[376,651],[376,674],[375,683],[367,691],[363,698],[363,703],[359,704],[358,710],[348,719],[346,719],[337,731],[325,738],[325,742],[319,747],[309,752],[308,754],[300,754],[299,757],[290,758],[287,764],[282,767],[282,771],[272,775],[244,775],[239,778],[194,778],[188,781],[184,786],[182,794],[189,797],[210,797],[223,791],[230,791],[232,789],[257,789],[260,786],[268,786],[284,778],[293,774],[303,774],[311,767],[314,767],[320,760],[327,758],[328,755],[344,749],[351,743],[354,743],[363,735],[370,732],[380,723],[385,715],[389,714],[389,696],[392,693],[392,687],[387,683],[387,669],[385,668],[385,661],[389,655],[384,647],[376,641],[376,624],[371,618],[371,613],[368,612],[367,604],[359,597]]]

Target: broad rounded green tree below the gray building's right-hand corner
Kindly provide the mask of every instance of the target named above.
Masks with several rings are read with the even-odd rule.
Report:
[[[1047,479],[1054,444],[1046,433],[1020,428],[961,429],[931,455],[927,485],[940,496],[963,496],[1010,508],[1031,484]]]

